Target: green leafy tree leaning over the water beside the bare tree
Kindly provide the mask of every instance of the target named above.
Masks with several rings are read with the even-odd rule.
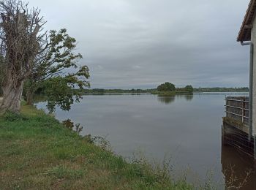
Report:
[[[73,102],[78,102],[81,93],[76,88],[89,86],[88,66],[78,66],[80,53],[74,53],[75,38],[69,37],[65,28],[59,32],[50,31],[50,36],[41,53],[34,60],[29,79],[26,80],[24,96],[28,104],[33,104],[34,93],[40,88],[48,98],[48,109],[56,105],[69,110]]]

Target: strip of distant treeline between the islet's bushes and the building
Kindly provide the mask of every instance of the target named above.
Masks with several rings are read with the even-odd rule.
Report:
[[[249,92],[248,87],[241,88],[194,88],[194,92]]]

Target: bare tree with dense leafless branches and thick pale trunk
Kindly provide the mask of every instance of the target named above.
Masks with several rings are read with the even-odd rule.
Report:
[[[31,75],[34,58],[45,38],[45,23],[39,13],[39,9],[29,9],[20,0],[0,1],[0,56],[4,73],[0,114],[20,111],[24,80]]]

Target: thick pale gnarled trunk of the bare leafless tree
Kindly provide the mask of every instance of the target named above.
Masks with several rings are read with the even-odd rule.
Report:
[[[19,113],[20,102],[23,91],[23,81],[18,82],[17,85],[13,85],[13,80],[6,81],[3,86],[4,96],[0,104],[0,115],[7,111]]]

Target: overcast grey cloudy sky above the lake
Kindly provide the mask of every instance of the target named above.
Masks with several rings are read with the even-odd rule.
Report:
[[[67,28],[92,88],[248,86],[236,42],[249,0],[30,0],[47,29]]]

